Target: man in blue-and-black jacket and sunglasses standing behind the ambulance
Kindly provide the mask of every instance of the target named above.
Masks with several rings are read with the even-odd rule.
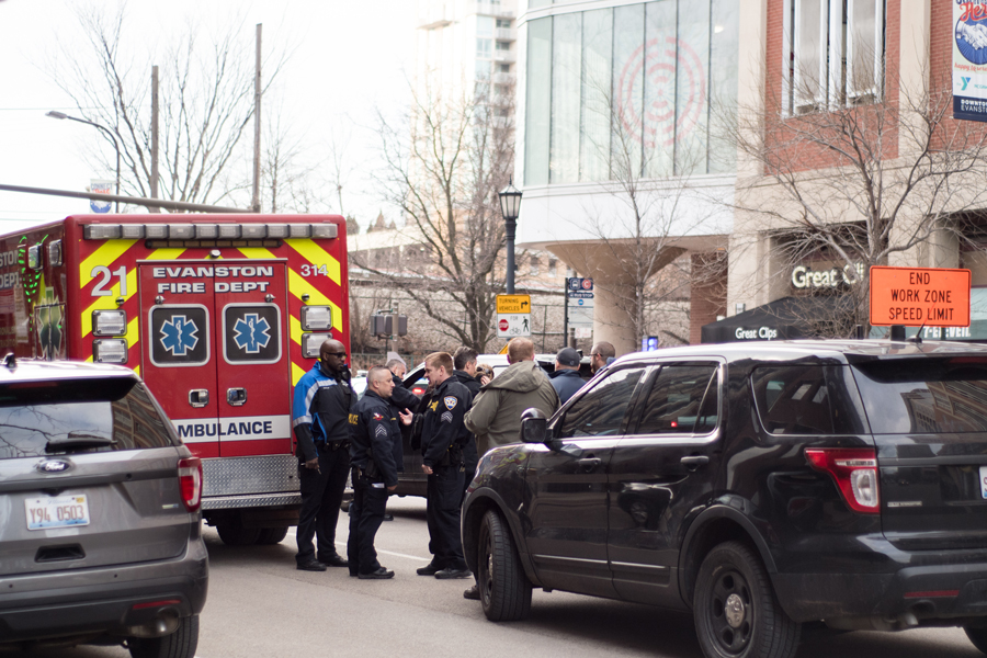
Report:
[[[319,362],[295,384],[292,405],[302,489],[295,561],[303,571],[348,565],[336,551],[336,523],[350,472],[349,417],[355,398],[345,347],[326,340]]]

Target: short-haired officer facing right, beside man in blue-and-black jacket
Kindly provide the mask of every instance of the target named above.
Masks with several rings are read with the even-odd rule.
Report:
[[[397,488],[401,468],[401,430],[390,398],[390,371],[376,365],[366,376],[366,394],[350,413],[350,463],[353,466],[353,501],[350,503],[350,538],[347,557],[350,576],[361,579],[393,578],[394,571],[377,561],[374,536],[384,521],[387,492]],[[417,399],[416,399],[417,401]],[[401,422],[411,423],[405,409]]]

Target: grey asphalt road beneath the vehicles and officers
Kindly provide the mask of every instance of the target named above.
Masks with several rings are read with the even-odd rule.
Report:
[[[339,568],[325,574],[296,570],[293,533],[275,546],[235,548],[207,529],[212,570],[197,656],[702,658],[691,616],[644,605],[535,591],[527,620],[490,623],[478,602],[463,599],[472,581],[441,581],[415,574],[429,560],[424,501],[393,499],[388,511],[395,521],[382,526],[377,548],[382,564],[397,575],[383,581],[350,578],[347,569]],[[338,538],[344,542],[345,536],[347,517],[340,514]],[[128,655],[121,647],[32,654],[37,658]],[[983,658],[956,628],[804,634],[798,658],[833,656]]]

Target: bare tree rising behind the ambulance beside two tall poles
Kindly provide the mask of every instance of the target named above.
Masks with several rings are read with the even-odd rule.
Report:
[[[48,72],[82,117],[116,136],[122,191],[149,196],[151,58],[128,47],[123,4],[110,11],[78,4],[76,13],[86,46],[60,39],[59,56]],[[250,38],[245,37],[248,34]],[[241,138],[249,134],[253,118],[252,35],[239,19],[203,43],[200,29],[190,20],[181,35],[169,39],[159,89],[163,198],[215,203],[239,189],[229,166],[240,154]],[[284,53],[265,58],[265,90],[285,59]],[[113,146],[109,136],[99,134]],[[103,169],[115,169],[105,149],[98,160]]]

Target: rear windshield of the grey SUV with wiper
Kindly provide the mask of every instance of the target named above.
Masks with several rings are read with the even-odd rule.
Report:
[[[0,460],[174,445],[144,385],[129,378],[0,386]]]

